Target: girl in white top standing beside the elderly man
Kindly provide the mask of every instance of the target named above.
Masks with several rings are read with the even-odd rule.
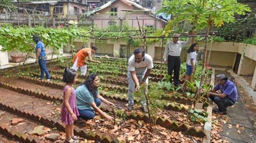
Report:
[[[185,85],[187,80],[189,80],[189,82],[192,82],[192,74],[195,73],[195,62],[196,62],[196,51],[198,50],[199,46],[197,43],[193,43],[191,44],[191,46],[189,47],[188,51],[187,51],[187,74],[186,74],[186,78],[185,78]]]

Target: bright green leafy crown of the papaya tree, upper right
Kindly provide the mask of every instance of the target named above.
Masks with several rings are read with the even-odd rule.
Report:
[[[195,34],[196,29],[221,27],[233,22],[235,14],[245,15],[246,12],[251,12],[249,6],[237,0],[164,0],[158,11],[173,17],[165,27],[165,35],[180,21],[188,21],[192,25],[189,32]]]

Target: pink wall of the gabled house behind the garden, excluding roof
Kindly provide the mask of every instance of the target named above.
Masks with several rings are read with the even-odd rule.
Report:
[[[112,7],[117,8],[116,16],[110,15]],[[129,6],[128,4],[125,4],[119,0],[117,2],[114,2],[111,6],[108,6],[107,8],[104,8],[101,11],[98,11],[97,13],[100,15],[95,15],[94,23],[99,28],[104,28],[104,27],[108,26],[108,22],[111,21],[106,18],[114,18],[114,20],[112,20],[112,21],[116,22],[116,24],[119,25],[119,22],[120,22],[119,17],[123,17],[123,18],[127,17],[127,19],[124,20],[126,23],[128,23],[131,27],[139,28],[138,22],[136,19],[136,17],[138,17],[140,19],[139,23],[140,23],[141,27],[154,25],[154,17],[146,14],[145,12],[138,12],[138,13],[132,12],[131,14],[127,14],[127,13],[124,13],[124,11],[121,11],[121,9],[135,10],[136,8],[134,6]],[[98,18],[98,20],[97,20],[97,18]],[[102,18],[105,18],[106,20],[102,20]],[[132,19],[134,19],[134,20],[132,20]],[[145,20],[142,20],[142,19],[145,19]],[[163,28],[164,26],[165,26],[165,22],[160,19],[157,19],[156,27]]]

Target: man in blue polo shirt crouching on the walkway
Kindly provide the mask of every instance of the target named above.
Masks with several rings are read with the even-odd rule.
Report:
[[[215,102],[219,109],[215,109],[216,114],[225,115],[227,114],[227,107],[234,105],[237,101],[238,91],[233,82],[228,80],[227,76],[224,74],[219,74],[216,76],[217,85],[207,94],[213,102]],[[220,90],[221,93],[215,93]]]

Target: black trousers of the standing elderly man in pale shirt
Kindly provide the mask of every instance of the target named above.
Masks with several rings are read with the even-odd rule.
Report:
[[[174,85],[179,85],[179,78],[180,78],[180,57],[176,56],[168,56],[168,74],[172,76],[172,71],[174,71]],[[172,78],[172,77],[171,77]],[[171,82],[170,78],[170,82]]]

